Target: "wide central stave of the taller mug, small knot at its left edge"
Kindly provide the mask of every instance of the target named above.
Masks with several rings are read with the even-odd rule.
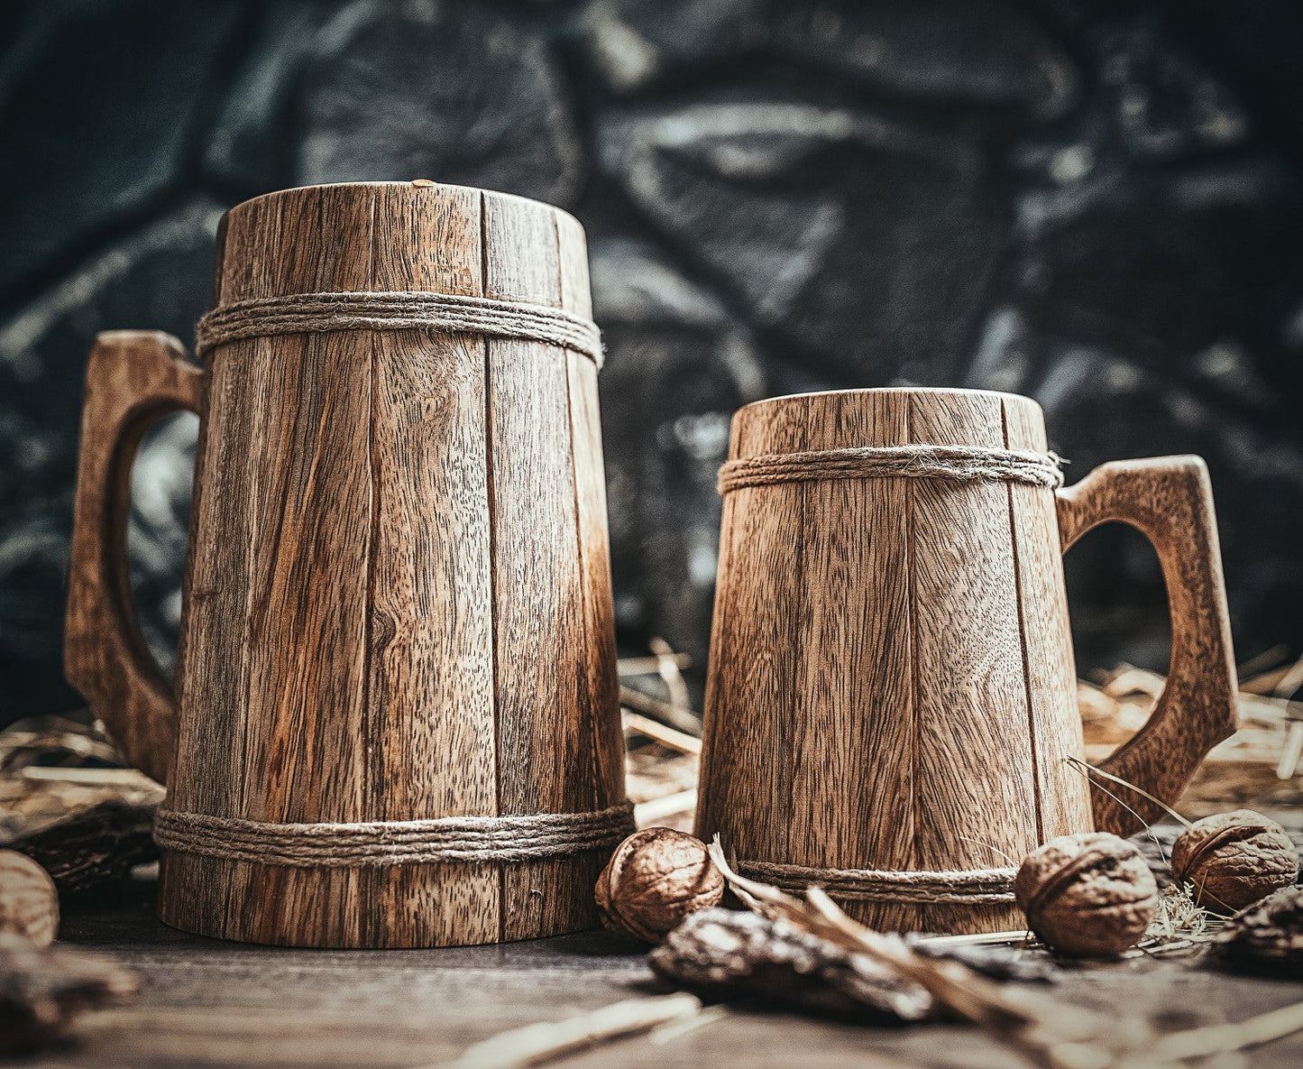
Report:
[[[382,246],[401,241],[388,229],[408,224],[403,198],[379,196]],[[377,288],[482,296],[478,193],[450,192],[434,210],[439,256],[377,259]],[[422,331],[378,334],[374,344],[369,808],[386,820],[496,813],[483,339]],[[418,941],[498,937],[491,867],[384,872],[390,907],[409,906],[423,927]]]

